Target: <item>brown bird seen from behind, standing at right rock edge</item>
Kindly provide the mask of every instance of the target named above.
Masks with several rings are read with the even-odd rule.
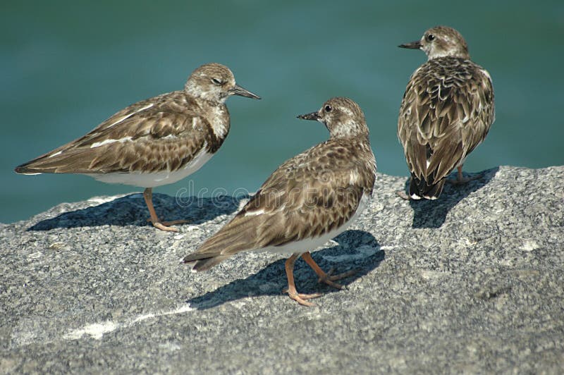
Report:
[[[437,199],[455,168],[455,183],[479,178],[464,178],[462,164],[494,123],[494,87],[452,27],[431,27],[421,39],[398,47],[421,49],[428,59],[411,75],[398,116],[398,138],[411,173],[409,197],[403,195]]]

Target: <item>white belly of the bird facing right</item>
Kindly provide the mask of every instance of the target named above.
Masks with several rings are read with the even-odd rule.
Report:
[[[176,183],[200,169],[214,154],[202,150],[194,159],[178,171],[160,171],[153,173],[85,173],[86,176],[96,178],[104,183],[122,183],[140,187],[157,187]]]

